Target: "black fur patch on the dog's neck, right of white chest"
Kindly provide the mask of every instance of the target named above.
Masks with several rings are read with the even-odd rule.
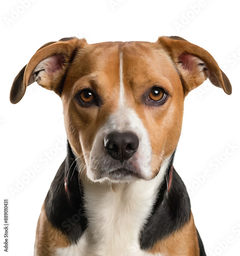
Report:
[[[186,187],[173,168],[169,192],[167,192],[165,179],[160,186],[152,214],[141,232],[141,249],[150,249],[159,240],[167,238],[172,232],[184,226],[190,219],[190,215],[191,206]]]

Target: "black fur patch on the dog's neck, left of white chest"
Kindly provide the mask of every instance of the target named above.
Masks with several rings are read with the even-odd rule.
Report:
[[[68,192],[64,188],[67,175]],[[86,228],[82,202],[83,191],[78,177],[77,162],[68,143],[68,154],[58,169],[45,199],[49,222],[67,234],[71,243],[77,243]]]

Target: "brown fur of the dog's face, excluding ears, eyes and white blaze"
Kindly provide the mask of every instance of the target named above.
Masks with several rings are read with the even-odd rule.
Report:
[[[155,45],[149,46],[144,42],[119,45],[108,43],[81,49],[78,58],[69,70],[62,91],[67,135],[74,151],[79,156],[83,154],[83,161],[86,162],[86,159],[88,161],[96,132],[117,108],[119,47],[123,54],[126,101],[129,108],[134,109],[139,115],[148,131],[154,153],[151,164],[152,177],[154,177],[164,160],[163,156],[172,154],[178,143],[184,101],[182,83],[176,69],[172,66],[167,53],[158,50]],[[142,58],[138,55],[140,50],[144,52]],[[79,78],[79,73],[81,78]],[[104,86],[105,84],[107,86]],[[151,108],[141,101],[140,95],[150,89],[153,84],[166,88],[171,95],[161,108]],[[85,87],[95,89],[103,99],[104,104],[100,110],[82,108],[73,99],[74,95]],[[153,127],[158,127],[158,129],[152,129]],[[159,139],[156,140],[156,137]],[[79,143],[79,138],[81,143]]]

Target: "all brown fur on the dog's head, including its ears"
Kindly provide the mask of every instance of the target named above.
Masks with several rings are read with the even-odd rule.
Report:
[[[69,63],[74,51],[75,58]],[[182,127],[184,97],[187,93],[199,86],[207,78],[207,74],[217,77],[218,83],[215,82],[215,85],[229,92],[226,88],[229,88],[230,83],[225,82],[224,85],[221,70],[207,51],[188,41],[169,37],[160,37],[155,43],[104,42],[93,45],[88,45],[84,39],[73,38],[40,48],[26,68],[22,87],[27,87],[32,71],[41,60],[53,54],[64,56],[66,65],[62,70],[53,75],[46,74],[39,83],[60,95],[70,145],[88,165],[96,132],[117,108],[120,51],[123,56],[126,101],[128,107],[139,115],[148,132],[153,153],[151,168],[154,177],[158,174],[164,156],[171,155],[177,147]],[[199,56],[206,62],[208,70],[200,71],[197,62],[195,66],[193,63],[191,70],[186,69],[179,63],[185,53]],[[60,81],[66,72],[67,77],[60,93]],[[167,102],[157,108],[141,101],[141,95],[154,85],[166,89],[170,95]],[[86,87],[95,90],[101,97],[103,105],[100,109],[83,108],[75,101],[76,93]]]

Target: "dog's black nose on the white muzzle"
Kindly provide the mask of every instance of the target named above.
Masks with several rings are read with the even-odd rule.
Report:
[[[139,139],[137,135],[131,132],[108,134],[104,139],[104,146],[108,154],[120,161],[133,156],[137,151]]]

